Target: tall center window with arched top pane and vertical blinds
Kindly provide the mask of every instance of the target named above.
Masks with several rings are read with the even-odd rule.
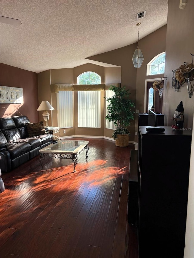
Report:
[[[78,84],[101,84],[98,73],[85,72]],[[100,127],[100,91],[78,91],[78,127]]]

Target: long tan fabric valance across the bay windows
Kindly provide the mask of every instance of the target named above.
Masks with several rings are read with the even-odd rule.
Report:
[[[105,84],[58,84],[54,83],[51,87],[52,92],[59,91],[84,91],[84,90],[109,90],[111,85],[121,87],[121,83],[105,83]]]

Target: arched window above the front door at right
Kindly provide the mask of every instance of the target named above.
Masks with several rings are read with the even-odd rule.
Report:
[[[147,75],[164,73],[166,52],[158,54],[147,64]]]

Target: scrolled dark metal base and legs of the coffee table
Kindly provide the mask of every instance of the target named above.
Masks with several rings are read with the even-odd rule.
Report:
[[[88,154],[88,145],[86,145],[83,149],[86,149],[86,153],[85,153],[85,159],[86,159],[86,162],[87,162],[87,154]],[[41,170],[43,169],[43,165],[42,165],[42,160],[45,159],[45,157],[49,157],[49,158],[68,158],[68,159],[71,159],[72,162],[74,163],[73,165],[73,172],[75,172],[75,166],[77,165],[77,153],[76,154],[67,154],[67,153],[41,153],[40,154],[40,158],[39,158],[39,162],[40,162],[40,165],[41,165]]]

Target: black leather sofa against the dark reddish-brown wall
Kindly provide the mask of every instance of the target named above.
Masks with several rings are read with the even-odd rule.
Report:
[[[34,125],[36,132],[33,133]],[[0,118],[1,171],[11,171],[34,158],[40,154],[40,149],[52,143],[52,138],[52,134],[46,133],[41,122],[32,124],[27,116]]]

